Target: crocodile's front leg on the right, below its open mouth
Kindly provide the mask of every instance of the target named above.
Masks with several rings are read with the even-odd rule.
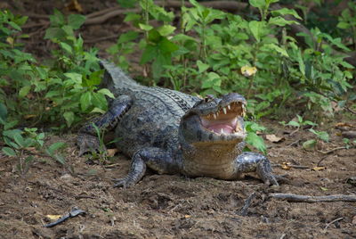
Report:
[[[255,152],[243,152],[235,160],[236,175],[256,172],[267,185],[279,185],[276,176],[273,175],[270,161],[262,154]]]

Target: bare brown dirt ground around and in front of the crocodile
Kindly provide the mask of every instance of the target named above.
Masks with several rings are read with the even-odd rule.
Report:
[[[84,14],[116,5],[116,1],[79,3]],[[2,4],[32,15],[49,14],[53,6],[64,9],[63,1]],[[37,16],[28,24],[41,21]],[[105,49],[116,39],[97,39],[127,28],[122,18],[117,18],[84,27],[83,36],[91,45]],[[41,38],[44,29],[32,27],[25,31],[31,34],[28,51],[39,58],[48,55],[48,43]],[[105,55],[104,51],[101,54]],[[346,121],[354,123],[352,119]],[[282,128],[278,122],[262,122],[269,134],[285,138],[279,143],[266,140],[275,173],[288,175],[288,181],[279,187],[263,185],[253,175],[223,181],[148,172],[133,187],[114,188],[111,179],[125,176],[130,161],[118,154],[103,166],[77,157],[75,135],[50,136],[46,140],[46,144],[61,141],[68,145],[62,154],[74,174],[35,152],[36,161],[27,174],[20,176],[18,159],[0,152],[0,238],[356,238],[355,202],[286,202],[268,196],[356,194],[355,184],[347,180],[356,176],[356,149],[325,153],[344,146],[339,130],[333,127],[336,122],[325,128],[331,139],[328,144],[320,144],[322,152],[303,150],[302,143],[311,139],[312,133],[300,130],[290,135],[285,130],[290,133],[293,129]],[[282,169],[280,165],[285,162],[305,167]],[[316,166],[325,168],[313,170]],[[254,193],[242,216],[245,201]],[[64,215],[73,207],[85,210],[85,215],[69,218],[56,227],[44,227],[51,221],[49,215]]]

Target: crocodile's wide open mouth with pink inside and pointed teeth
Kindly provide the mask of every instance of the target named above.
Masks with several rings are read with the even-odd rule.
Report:
[[[218,111],[200,116],[200,120],[202,126],[214,134],[231,135],[244,130],[238,117],[245,116],[245,112],[244,103],[232,102],[225,107],[220,107]]]

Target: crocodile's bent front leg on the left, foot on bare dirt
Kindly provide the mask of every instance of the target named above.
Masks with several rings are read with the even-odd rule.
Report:
[[[175,174],[182,164],[171,155],[159,148],[148,147],[134,153],[128,174],[123,178],[114,179],[114,186],[128,187],[138,183],[146,172],[146,165],[159,174]]]

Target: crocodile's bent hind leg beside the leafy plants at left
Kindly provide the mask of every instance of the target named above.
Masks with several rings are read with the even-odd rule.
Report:
[[[115,128],[119,119],[130,109],[132,103],[130,96],[121,95],[113,101],[109,111],[80,128],[77,136],[79,156],[85,152],[100,150],[99,139],[93,124],[104,132]]]

